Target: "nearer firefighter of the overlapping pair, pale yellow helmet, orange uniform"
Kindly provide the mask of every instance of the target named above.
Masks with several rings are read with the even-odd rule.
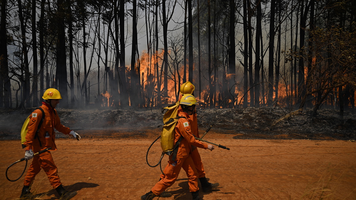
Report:
[[[213,151],[214,147],[212,145],[207,145],[195,140],[191,132],[191,127],[189,125],[189,115],[192,115],[195,109],[195,105],[198,104],[193,95],[184,95],[182,100],[179,102],[182,111],[179,116],[185,117],[178,120],[177,126],[175,128],[176,134],[174,138],[174,143],[179,140],[179,146],[171,156],[169,156],[169,161],[164,168],[161,175],[161,180],[156,183],[150,192],[141,196],[141,200],[152,200],[156,196],[159,196],[164,190],[172,186],[176,182],[180,169],[183,168],[188,176],[189,190],[192,193],[193,200],[199,200],[199,187],[198,187],[198,172],[194,167],[194,162],[189,154],[191,151],[191,145],[199,148],[209,149]],[[181,138],[183,137],[183,138]]]

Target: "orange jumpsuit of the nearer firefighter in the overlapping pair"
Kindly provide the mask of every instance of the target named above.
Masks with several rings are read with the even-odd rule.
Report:
[[[186,117],[188,119],[189,115],[184,112],[180,112],[178,116]],[[180,141],[178,146],[176,162],[172,160],[173,154],[171,154],[171,156],[169,156],[168,164],[163,170],[165,175],[161,174],[161,180],[158,181],[158,183],[156,183],[156,185],[151,189],[155,195],[160,195],[164,190],[176,182],[181,168],[185,170],[188,176],[189,190],[191,192],[199,190],[198,173],[194,167],[194,162],[190,157],[189,152],[191,151],[191,145],[203,149],[207,149],[208,145],[194,139],[191,127],[189,126],[189,121],[187,119],[180,118],[178,120],[175,129],[176,134],[174,136],[174,143],[179,140],[180,136],[183,136],[184,138]]]

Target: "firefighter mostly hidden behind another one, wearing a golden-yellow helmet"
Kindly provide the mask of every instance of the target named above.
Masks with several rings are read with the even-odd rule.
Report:
[[[190,83],[189,81],[185,82],[180,86],[180,95],[178,101],[182,98],[183,95],[185,94],[192,94],[194,96],[194,85]],[[179,112],[182,111],[182,108],[180,107],[178,109],[178,114]],[[198,129],[198,120],[197,120],[197,110],[194,109],[193,115],[188,116],[189,124],[190,127],[192,127],[192,134],[194,137],[200,138],[199,136],[199,129]],[[197,169],[197,172],[199,174],[198,178],[201,184],[201,187],[203,189],[204,193],[209,192],[211,189],[215,189],[219,186],[219,183],[209,183],[208,180],[205,177],[205,171],[204,171],[204,166],[203,163],[201,162],[200,154],[198,152],[198,149],[196,147],[192,147],[192,152],[190,152],[190,157],[192,157],[195,168]]]

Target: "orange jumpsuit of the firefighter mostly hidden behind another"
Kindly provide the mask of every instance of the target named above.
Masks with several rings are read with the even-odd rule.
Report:
[[[183,95],[181,95],[181,94],[179,95],[178,101],[180,101],[182,96]],[[182,111],[182,108],[179,106],[178,114],[181,111]],[[189,125],[192,128],[193,136],[200,138],[196,110],[194,110],[193,115],[188,115],[188,120],[189,120]],[[198,148],[192,149],[192,152],[190,152],[190,157],[192,157],[194,165],[195,165],[195,169],[197,169],[197,172],[199,174],[198,178],[205,177],[205,170],[204,170],[203,163],[201,162],[201,158],[200,158],[200,154],[198,152]]]

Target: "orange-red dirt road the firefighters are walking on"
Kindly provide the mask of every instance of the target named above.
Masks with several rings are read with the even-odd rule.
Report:
[[[309,189],[325,186],[335,193],[329,196],[333,199],[356,199],[355,142],[234,140],[231,136],[216,133],[208,134],[205,139],[231,150],[217,148],[210,152],[199,149],[206,177],[211,183],[220,183],[209,193],[200,192],[201,199],[299,199],[314,191]],[[150,191],[161,173],[159,167],[151,168],[146,164],[146,151],[152,141],[152,138],[58,139],[58,151],[52,155],[64,188],[78,191],[73,200],[138,200]],[[0,141],[0,200],[20,196],[25,175],[16,182],[5,178],[7,166],[24,156],[19,143],[18,140]],[[161,152],[159,143],[156,144],[150,152],[151,164],[157,163]],[[162,163],[167,159],[164,157]],[[25,162],[16,165],[9,170],[12,179],[22,172]],[[43,170],[32,188],[35,194],[47,193],[42,199],[58,198]],[[192,198],[183,170],[167,191],[173,196],[166,200]]]

